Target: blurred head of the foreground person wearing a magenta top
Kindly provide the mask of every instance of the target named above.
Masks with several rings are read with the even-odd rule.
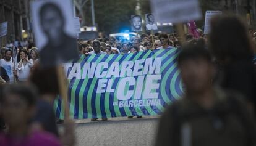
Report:
[[[37,97],[36,89],[28,84],[12,84],[4,88],[2,113],[10,129],[28,124],[35,115]]]

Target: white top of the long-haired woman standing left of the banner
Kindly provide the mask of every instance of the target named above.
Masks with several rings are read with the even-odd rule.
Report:
[[[17,73],[18,73],[18,79],[19,81],[27,81],[28,76],[30,75],[30,68],[33,67],[33,60],[30,59],[29,62],[27,62],[25,65],[23,65],[19,68],[19,63],[17,63]]]

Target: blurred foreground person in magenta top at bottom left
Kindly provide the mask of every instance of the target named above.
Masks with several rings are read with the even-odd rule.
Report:
[[[58,138],[48,132],[30,131],[37,97],[36,89],[27,84],[15,84],[4,89],[2,113],[9,129],[6,134],[0,133],[1,146],[61,145]]]

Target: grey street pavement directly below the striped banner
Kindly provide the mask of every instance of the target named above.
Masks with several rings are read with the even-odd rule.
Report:
[[[108,121],[76,120],[77,146],[153,145],[159,116],[109,118]]]

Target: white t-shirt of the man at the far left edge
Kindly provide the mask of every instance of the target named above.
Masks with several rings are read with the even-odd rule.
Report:
[[[9,76],[10,83],[14,83],[14,63],[12,62],[12,59],[7,62],[4,59],[0,60],[0,66],[6,70],[7,75]]]

